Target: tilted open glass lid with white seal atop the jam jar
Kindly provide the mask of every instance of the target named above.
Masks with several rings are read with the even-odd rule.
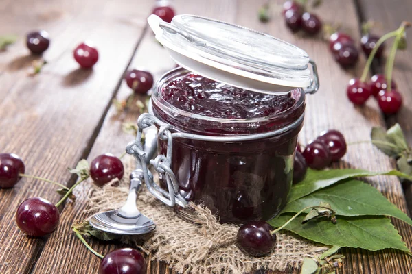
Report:
[[[308,54],[273,36],[193,15],[174,16],[172,23],[151,15],[148,23],[177,64],[218,82],[271,94],[319,86]]]

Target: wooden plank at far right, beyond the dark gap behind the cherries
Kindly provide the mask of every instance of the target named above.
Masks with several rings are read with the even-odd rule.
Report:
[[[374,29],[376,34],[384,34],[393,29],[397,29],[402,21],[412,21],[412,2],[409,0],[359,0],[359,4],[365,21],[374,20],[382,23],[382,28]],[[412,37],[411,29],[407,35],[408,48],[405,51],[398,51],[396,55],[395,67],[393,68],[393,79],[396,81],[398,91],[403,97],[403,107],[398,114],[387,117],[388,127],[394,123],[400,123],[404,129],[405,137],[409,144],[412,144]],[[391,43],[386,42],[386,55],[389,55]],[[383,65],[374,67],[375,71],[383,73]],[[412,210],[412,185],[404,184],[405,195],[409,201],[409,211]]]

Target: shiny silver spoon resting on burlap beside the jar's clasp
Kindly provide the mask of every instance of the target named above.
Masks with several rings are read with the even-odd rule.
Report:
[[[148,127],[144,129],[146,142],[144,151],[146,160],[149,161],[157,147],[157,129]],[[118,210],[110,210],[95,214],[89,223],[95,228],[112,234],[139,235],[152,232],[155,222],[141,214],[136,206],[137,191],[143,184],[143,171],[137,166],[130,174],[130,190],[124,206]]]

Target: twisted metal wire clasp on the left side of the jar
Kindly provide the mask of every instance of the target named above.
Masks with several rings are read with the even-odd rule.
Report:
[[[155,183],[153,175],[149,171],[146,164],[146,154],[144,153],[143,144],[141,142],[143,129],[155,124],[160,126],[158,136],[161,140],[166,140],[168,142],[168,150],[166,155],[157,155],[155,160],[150,160],[150,164],[153,165],[159,174],[165,176],[168,191],[163,190],[163,188]],[[146,187],[153,196],[157,197],[157,199],[166,205],[174,206],[178,204],[181,207],[185,207],[187,205],[187,201],[180,194],[179,183],[177,182],[172,169],[170,169],[170,165],[172,164],[172,133],[170,132],[170,129],[172,129],[172,125],[164,125],[161,121],[156,119],[155,116],[145,113],[141,114],[139,119],[137,119],[137,126],[138,131],[136,140],[128,143],[126,152],[133,155],[137,161],[137,164],[141,165]]]

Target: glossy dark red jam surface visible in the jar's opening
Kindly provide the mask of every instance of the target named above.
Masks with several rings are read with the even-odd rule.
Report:
[[[187,112],[222,119],[251,119],[271,116],[295,104],[288,95],[266,95],[222,84],[187,73],[161,90],[165,101]]]

